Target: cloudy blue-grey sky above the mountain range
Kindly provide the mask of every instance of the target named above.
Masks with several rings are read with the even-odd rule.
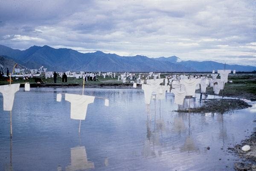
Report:
[[[0,44],[256,66],[256,1],[0,0]]]

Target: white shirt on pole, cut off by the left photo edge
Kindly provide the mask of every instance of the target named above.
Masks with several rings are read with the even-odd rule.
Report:
[[[0,85],[3,94],[3,110],[12,111],[15,93],[20,90],[20,84]]]

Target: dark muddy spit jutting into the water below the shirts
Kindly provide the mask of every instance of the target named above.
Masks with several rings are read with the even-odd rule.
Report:
[[[210,99],[204,100],[204,104],[199,108],[189,108],[186,110],[178,110],[177,112],[192,112],[192,113],[221,113],[227,111],[252,107],[243,100],[239,99]]]

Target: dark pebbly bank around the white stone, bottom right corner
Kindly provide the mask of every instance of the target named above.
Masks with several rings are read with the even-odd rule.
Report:
[[[256,120],[253,122],[256,123]],[[250,151],[242,151],[244,145],[250,146]],[[239,156],[241,162],[236,162],[234,168],[237,171],[256,171],[256,128],[250,137],[243,140],[241,144],[235,145],[233,148],[228,148],[232,153]]]

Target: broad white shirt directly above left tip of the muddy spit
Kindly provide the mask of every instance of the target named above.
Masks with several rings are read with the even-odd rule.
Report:
[[[195,96],[196,85],[199,84],[200,82],[201,82],[201,78],[180,80],[180,84],[185,85],[187,96]]]

